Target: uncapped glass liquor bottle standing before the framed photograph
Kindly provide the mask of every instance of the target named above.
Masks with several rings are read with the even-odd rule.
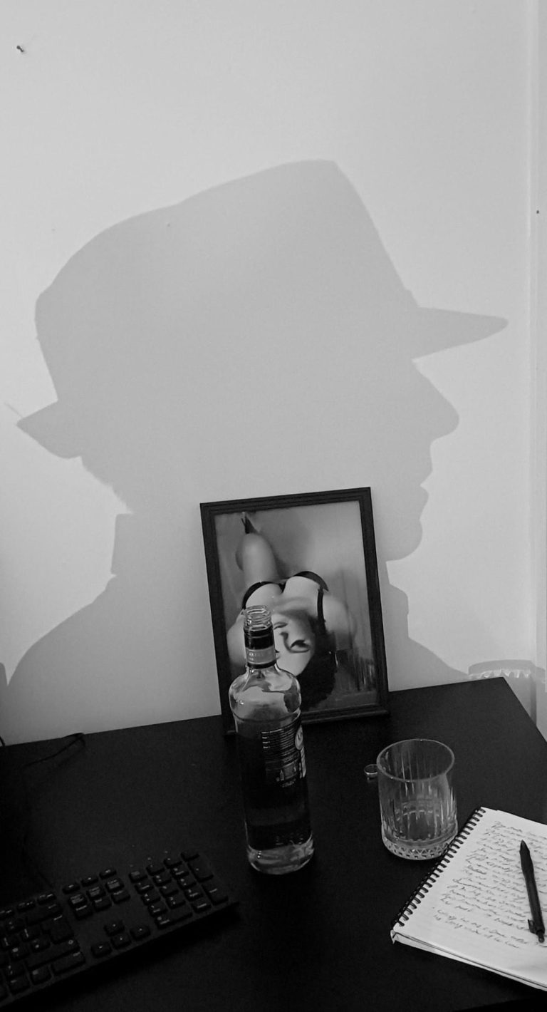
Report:
[[[285,874],[313,855],[300,689],[276,664],[272,616],[245,610],[247,669],[230,687],[242,776],[247,856],[259,871]]]

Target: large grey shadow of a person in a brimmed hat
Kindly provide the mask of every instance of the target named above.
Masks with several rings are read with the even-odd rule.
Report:
[[[267,469],[261,494],[371,485],[380,566],[413,552],[431,443],[457,424],[413,359],[504,325],[419,307],[332,162],[257,173],[89,242],[38,299],[58,400],[19,425],[80,456],[132,516],[104,593],[4,687],[11,740],[193,715],[203,674],[182,675],[181,658],[206,656],[184,625],[204,565],[197,503],[238,498],[224,495],[238,474],[247,495]]]

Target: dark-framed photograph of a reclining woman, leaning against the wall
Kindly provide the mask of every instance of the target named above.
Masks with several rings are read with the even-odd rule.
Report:
[[[305,723],[387,712],[370,489],[201,503],[226,734],[246,667],[243,609],[272,610],[279,667],[298,678]]]

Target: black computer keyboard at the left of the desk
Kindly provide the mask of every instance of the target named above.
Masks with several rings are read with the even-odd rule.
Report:
[[[204,855],[185,847],[6,904],[0,910],[0,1009],[175,931],[212,925],[236,903]]]

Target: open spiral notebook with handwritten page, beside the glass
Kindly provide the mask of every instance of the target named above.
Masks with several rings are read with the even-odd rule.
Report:
[[[547,990],[547,939],[542,944],[528,927],[521,840],[547,925],[547,826],[480,808],[399,911],[392,941]]]

